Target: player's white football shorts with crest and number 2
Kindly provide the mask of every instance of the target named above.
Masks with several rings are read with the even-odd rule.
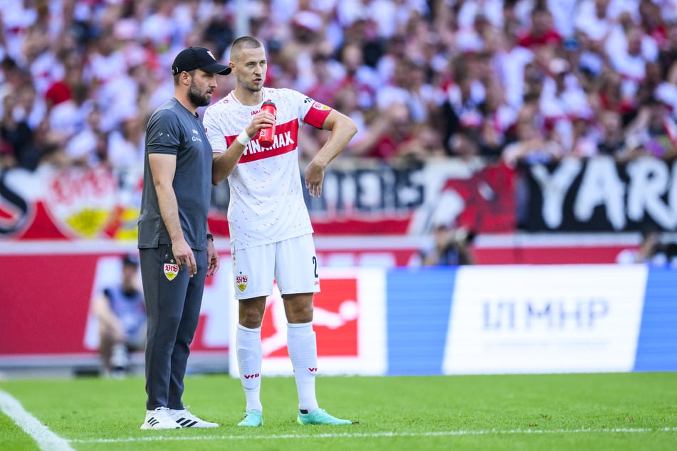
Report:
[[[235,298],[270,296],[273,281],[282,295],[320,292],[313,235],[253,248],[231,249]]]

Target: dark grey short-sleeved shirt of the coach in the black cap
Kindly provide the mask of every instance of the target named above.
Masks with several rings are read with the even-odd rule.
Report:
[[[164,226],[154,189],[148,154],[177,156],[174,193],[179,220],[188,245],[207,247],[207,213],[211,201],[211,144],[199,117],[172,98],[153,112],[146,127],[143,193],[139,216],[139,248],[172,244]]]

